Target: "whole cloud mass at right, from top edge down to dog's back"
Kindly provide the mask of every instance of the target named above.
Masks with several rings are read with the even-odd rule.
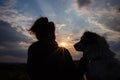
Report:
[[[82,0],[77,1],[79,2],[73,3],[78,4],[73,6],[76,14],[79,18],[86,16],[86,26],[88,25],[88,27],[83,28],[104,36],[110,44],[110,48],[118,55],[120,52],[119,1],[85,0],[85,4],[82,4]]]

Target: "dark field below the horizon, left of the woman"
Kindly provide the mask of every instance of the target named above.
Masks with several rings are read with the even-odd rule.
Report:
[[[0,80],[30,80],[26,63],[0,63]]]

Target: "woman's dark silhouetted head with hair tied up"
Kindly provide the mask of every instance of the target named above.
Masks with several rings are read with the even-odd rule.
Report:
[[[49,22],[47,17],[38,18],[30,31],[36,35],[38,40],[55,40],[55,25]]]

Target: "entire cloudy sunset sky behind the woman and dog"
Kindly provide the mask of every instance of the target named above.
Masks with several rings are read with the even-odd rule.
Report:
[[[120,0],[0,0],[0,62],[26,62],[35,40],[28,29],[48,17],[56,26],[56,41],[74,60],[82,56],[73,45],[86,30],[104,36],[120,58]]]

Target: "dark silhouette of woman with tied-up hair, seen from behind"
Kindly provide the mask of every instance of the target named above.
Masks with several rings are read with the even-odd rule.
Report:
[[[28,48],[27,70],[31,80],[73,78],[75,64],[66,48],[55,41],[55,25],[47,17],[38,18],[30,28],[38,41]]]

